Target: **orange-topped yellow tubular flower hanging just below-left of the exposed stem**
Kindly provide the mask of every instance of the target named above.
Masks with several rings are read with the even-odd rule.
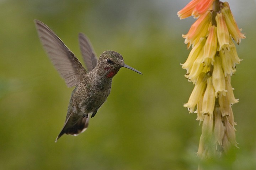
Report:
[[[216,51],[217,51],[217,27],[210,26],[209,35],[204,45],[203,62],[206,63],[206,66],[209,66],[209,64],[213,65]]]

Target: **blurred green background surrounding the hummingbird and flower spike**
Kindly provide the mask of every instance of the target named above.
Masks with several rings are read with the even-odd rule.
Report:
[[[183,107],[193,85],[180,66],[189,53],[181,34],[195,20],[177,17],[188,2],[0,0],[0,169],[197,169],[201,126]],[[209,169],[251,170],[256,169],[256,2],[228,2],[247,36],[237,49],[244,60],[231,78],[240,99],[233,106],[240,149]],[[98,56],[117,51],[143,73],[121,69],[89,128],[57,143],[73,88],[49,61],[33,19],[53,29],[80,61],[83,32]]]

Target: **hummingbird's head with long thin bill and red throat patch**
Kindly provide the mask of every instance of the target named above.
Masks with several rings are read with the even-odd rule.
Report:
[[[123,57],[115,51],[104,51],[98,60],[97,64],[107,78],[112,78],[117,74],[121,67],[129,68],[134,72],[140,73],[138,70],[124,64]]]

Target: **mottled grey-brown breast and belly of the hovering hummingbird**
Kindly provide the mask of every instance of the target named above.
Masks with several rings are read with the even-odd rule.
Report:
[[[87,73],[74,89],[73,111],[81,116],[97,111],[110,94],[111,82],[112,78],[102,78],[92,72]]]

